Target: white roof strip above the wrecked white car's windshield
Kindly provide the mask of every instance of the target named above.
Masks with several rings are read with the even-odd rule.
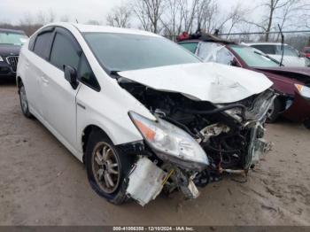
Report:
[[[120,28],[120,27],[109,27],[109,26],[97,26],[97,25],[87,25],[80,23],[51,23],[46,25],[45,27],[66,27],[68,29],[75,27],[81,33],[120,33],[120,34],[128,34],[128,35],[146,35],[153,37],[161,37],[160,35],[153,34],[151,32],[137,30],[137,29],[129,29],[129,28]]]

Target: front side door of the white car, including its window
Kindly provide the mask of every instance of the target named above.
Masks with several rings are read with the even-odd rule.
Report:
[[[44,111],[50,130],[66,147],[76,148],[76,95],[80,85],[73,89],[66,81],[64,66],[78,69],[81,50],[73,35],[63,28],[55,29],[50,50],[50,66],[46,68],[43,84]]]

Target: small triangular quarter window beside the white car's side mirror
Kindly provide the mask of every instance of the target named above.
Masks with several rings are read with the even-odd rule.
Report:
[[[79,73],[79,80],[81,82],[85,83],[86,85],[88,85],[89,87],[93,89],[97,89],[97,90],[100,89],[96,76],[92,72],[89,66],[89,62],[87,61],[85,55],[81,56],[81,63],[79,66],[78,73]]]

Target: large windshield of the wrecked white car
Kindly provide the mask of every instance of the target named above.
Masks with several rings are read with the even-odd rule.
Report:
[[[99,63],[109,71],[201,62],[189,51],[162,37],[117,33],[85,33]]]

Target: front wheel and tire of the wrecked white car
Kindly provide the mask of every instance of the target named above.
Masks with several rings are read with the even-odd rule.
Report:
[[[99,155],[96,154],[97,152]],[[135,161],[134,158],[117,151],[105,133],[98,130],[92,131],[85,151],[86,170],[91,188],[110,203],[122,204],[128,198],[126,178]]]

